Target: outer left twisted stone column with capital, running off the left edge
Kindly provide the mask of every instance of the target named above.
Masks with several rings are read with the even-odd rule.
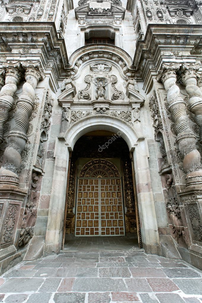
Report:
[[[22,77],[20,62],[3,63],[2,67],[5,69],[5,85],[2,87],[0,93],[0,144],[3,142],[4,125],[8,121],[9,113],[12,110],[13,96]],[[3,71],[0,77],[1,83],[2,75]]]

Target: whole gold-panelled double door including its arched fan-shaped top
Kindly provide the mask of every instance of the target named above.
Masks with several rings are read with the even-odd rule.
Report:
[[[121,178],[108,160],[82,168],[77,186],[75,236],[125,235]]]

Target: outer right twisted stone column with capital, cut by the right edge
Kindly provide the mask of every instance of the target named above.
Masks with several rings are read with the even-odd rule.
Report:
[[[182,64],[181,77],[186,93],[189,95],[190,111],[194,114],[194,121],[199,126],[200,143],[202,143],[202,91],[197,86],[199,68],[200,63]]]

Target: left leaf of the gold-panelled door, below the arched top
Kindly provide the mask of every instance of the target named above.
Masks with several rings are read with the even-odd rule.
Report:
[[[99,179],[78,179],[75,235],[99,235]]]

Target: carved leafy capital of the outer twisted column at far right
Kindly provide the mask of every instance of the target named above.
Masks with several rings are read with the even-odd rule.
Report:
[[[200,74],[197,72],[200,68],[200,62],[196,63],[190,63],[189,65],[187,64],[182,64],[182,80],[183,84],[186,85],[184,82],[193,82],[196,84],[197,78],[200,77]]]

